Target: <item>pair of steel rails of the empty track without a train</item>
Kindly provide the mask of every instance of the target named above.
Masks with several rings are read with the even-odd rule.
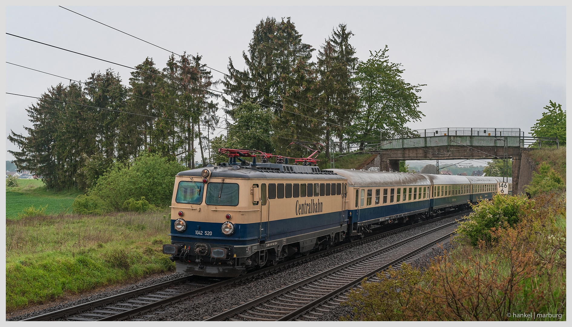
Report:
[[[311,282],[313,282],[313,281],[316,281],[317,279],[320,279],[321,277],[324,277],[324,276],[326,276],[326,275],[329,275],[329,274],[335,273],[335,272],[337,272],[337,271],[339,271],[339,270],[341,270],[341,269],[344,269],[345,267],[352,266],[352,265],[354,265],[355,263],[359,263],[359,262],[361,262],[361,261],[364,261],[364,260],[366,260],[366,259],[369,259],[369,258],[371,258],[371,257],[374,257],[375,255],[378,255],[378,254],[380,254],[380,253],[384,253],[384,252],[386,252],[386,251],[388,251],[388,250],[394,249],[395,247],[404,245],[404,244],[409,243],[409,242],[411,242],[411,241],[415,241],[415,240],[417,240],[417,239],[419,239],[419,238],[421,238],[421,237],[424,237],[425,235],[428,235],[428,234],[435,233],[435,232],[437,232],[437,231],[446,229],[447,227],[450,227],[450,226],[452,226],[453,224],[458,223],[459,221],[461,221],[461,220],[456,220],[455,222],[450,222],[450,223],[444,224],[444,225],[442,225],[442,226],[432,228],[431,230],[424,231],[423,233],[420,233],[420,234],[418,234],[418,235],[412,236],[412,237],[410,237],[410,238],[403,239],[402,241],[393,243],[392,245],[388,245],[388,246],[386,246],[386,247],[383,247],[382,249],[375,250],[375,251],[373,251],[373,252],[371,252],[371,253],[368,253],[368,254],[366,254],[366,255],[363,255],[362,257],[359,257],[359,258],[353,259],[353,260],[351,260],[351,261],[342,263],[341,265],[338,265],[338,266],[336,266],[336,267],[332,267],[331,269],[322,271],[321,273],[318,273],[318,274],[315,274],[315,275],[313,275],[313,276],[311,276],[311,277],[305,278],[305,279],[303,279],[303,280],[301,280],[301,281],[299,281],[299,282],[296,282],[296,283],[293,283],[293,284],[288,285],[288,286],[286,286],[286,287],[282,287],[281,289],[272,291],[271,293],[265,294],[264,296],[259,297],[259,298],[256,298],[255,300],[246,302],[245,304],[236,306],[235,308],[229,309],[229,310],[227,310],[227,311],[225,311],[225,312],[222,312],[222,313],[220,313],[220,314],[217,314],[217,315],[215,315],[215,316],[206,318],[204,321],[221,321],[221,320],[230,318],[230,317],[234,316],[234,315],[237,314],[237,313],[244,312],[245,310],[248,310],[248,309],[250,309],[250,308],[253,308],[253,307],[256,306],[256,305],[259,305],[259,304],[261,304],[261,303],[263,303],[263,302],[265,302],[265,301],[271,300],[272,298],[275,298],[275,297],[277,297],[277,296],[280,296],[281,294],[285,294],[285,293],[287,293],[288,291],[291,291],[291,290],[293,290],[293,289],[297,289],[297,288],[300,287],[300,286],[307,285],[308,283],[311,283]],[[355,285],[355,283],[358,283],[358,282],[362,281],[363,278],[368,277],[369,275],[375,274],[375,273],[378,272],[379,270],[385,269],[385,268],[383,268],[383,267],[385,267],[385,266],[388,267],[388,266],[390,266],[390,265],[392,265],[392,264],[394,264],[394,263],[396,263],[396,262],[399,262],[400,260],[403,260],[404,258],[410,257],[411,255],[413,255],[413,254],[415,254],[415,253],[418,253],[419,251],[422,251],[422,250],[426,249],[428,246],[431,246],[431,245],[433,245],[434,243],[439,242],[439,241],[442,240],[443,238],[449,237],[450,234],[452,234],[452,233],[454,233],[454,231],[452,231],[452,232],[450,232],[450,233],[447,233],[446,235],[443,235],[442,237],[439,237],[439,238],[436,239],[436,240],[432,240],[431,242],[425,243],[423,246],[417,247],[415,250],[409,251],[406,255],[402,255],[402,256],[400,256],[399,258],[392,260],[392,261],[390,262],[390,264],[388,264],[388,265],[384,265],[384,266],[382,266],[382,267],[376,267],[374,270],[369,271],[366,275],[360,275],[360,277],[353,279],[351,282],[346,283],[344,286],[339,287],[339,289],[340,289],[340,288],[343,288],[343,290],[345,290],[345,289],[351,287],[352,285]],[[309,308],[309,309],[312,309],[314,306],[319,305],[320,303],[329,300],[329,298],[331,298],[331,297],[335,296],[336,294],[340,293],[341,291],[343,291],[343,290],[339,290],[339,289],[336,289],[336,290],[334,290],[334,291],[331,291],[331,292],[329,292],[326,296],[320,297],[319,299],[317,299],[317,300],[315,300],[315,301],[312,301],[310,304],[307,304],[307,305],[301,307],[300,309],[295,310],[294,312],[296,312],[296,316],[299,316],[299,315],[301,314],[301,313],[299,313],[299,310],[303,310],[303,308],[307,308],[307,306],[310,306],[311,308]],[[306,311],[309,310],[309,309],[304,309],[302,313],[306,312]],[[289,317],[288,319],[291,319],[291,317],[289,316],[289,314],[288,314],[288,317]],[[284,320],[284,318],[280,318],[279,320]]]

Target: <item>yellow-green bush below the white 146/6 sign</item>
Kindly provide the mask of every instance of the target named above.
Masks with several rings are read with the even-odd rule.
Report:
[[[534,201],[525,196],[496,194],[491,200],[483,200],[472,206],[470,220],[459,224],[457,232],[467,237],[471,245],[479,241],[491,242],[491,228],[513,227],[520,221],[525,208],[534,206]]]

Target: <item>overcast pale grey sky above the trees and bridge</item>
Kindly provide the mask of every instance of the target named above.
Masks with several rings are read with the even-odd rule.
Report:
[[[176,53],[198,53],[227,72],[242,67],[252,30],[265,17],[291,17],[303,42],[318,49],[332,28],[346,23],[360,60],[389,47],[404,79],[423,86],[412,128],[511,127],[529,132],[553,100],[566,108],[565,7],[80,7],[89,17]],[[163,68],[168,52],[57,6],[6,7],[6,32],[128,66],[152,57]],[[112,68],[124,84],[129,69],[6,36],[6,61],[75,80]],[[317,50],[316,52],[317,53]],[[69,81],[5,64],[6,92],[41,96]],[[221,74],[214,73],[221,78]],[[6,136],[30,127],[33,103],[6,94]],[[6,140],[7,149],[17,149]],[[6,153],[6,160],[14,159]]]

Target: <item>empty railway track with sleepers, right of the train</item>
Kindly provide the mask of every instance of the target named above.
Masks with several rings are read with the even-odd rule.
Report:
[[[322,312],[335,308],[332,305],[336,303],[327,305],[324,302],[362,282],[364,278],[399,264],[451,237],[455,229],[456,222],[433,228],[236,306],[205,321],[289,321],[299,317],[315,319],[323,314]],[[325,308],[313,310],[319,305]],[[306,314],[307,312],[310,314]]]

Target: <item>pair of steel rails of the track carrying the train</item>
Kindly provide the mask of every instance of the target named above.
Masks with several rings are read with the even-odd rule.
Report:
[[[283,269],[285,267],[296,265],[296,264],[301,263],[301,262],[311,261],[314,258],[321,257],[323,255],[328,255],[331,253],[335,253],[336,251],[339,251],[339,250],[342,250],[345,248],[358,246],[358,245],[361,245],[361,244],[366,243],[366,242],[374,241],[375,239],[378,239],[378,238],[387,237],[388,235],[400,233],[400,232],[402,232],[404,230],[408,230],[410,228],[423,226],[424,224],[437,222],[439,220],[449,218],[450,216],[465,214],[467,212],[470,212],[470,210],[454,212],[452,214],[445,215],[445,216],[442,216],[439,218],[428,219],[428,220],[424,220],[424,221],[419,222],[419,223],[415,223],[415,224],[411,224],[408,226],[403,226],[403,227],[395,228],[393,230],[388,230],[388,231],[385,231],[382,233],[371,235],[369,237],[365,237],[363,239],[359,239],[359,240],[356,240],[356,241],[353,241],[350,243],[344,243],[342,245],[331,247],[330,249],[326,249],[326,250],[319,251],[319,252],[316,252],[313,254],[305,255],[304,257],[295,258],[295,259],[289,260],[287,262],[280,263],[276,266],[269,266],[269,267],[266,267],[263,269],[255,270],[255,271],[252,271],[251,273],[245,274],[243,276],[227,279],[226,281],[216,282],[216,283],[213,283],[212,285],[200,287],[198,289],[190,290],[190,291],[178,294],[178,295],[173,296],[173,297],[165,298],[164,300],[158,300],[158,301],[150,303],[148,305],[142,305],[138,308],[125,310],[124,312],[118,312],[117,314],[113,314],[112,316],[101,318],[101,319],[99,319],[99,321],[125,320],[126,318],[137,316],[137,314],[148,312],[150,310],[160,308],[161,306],[165,306],[165,305],[172,304],[174,302],[185,300],[186,298],[190,298],[193,296],[200,295],[202,293],[206,293],[208,291],[212,291],[212,290],[219,289],[221,287],[232,285],[233,283],[241,282],[241,281],[244,281],[246,279],[255,278],[259,275],[268,273],[268,272],[273,271],[273,270],[279,270],[279,269]],[[382,227],[382,226],[380,226],[380,227]],[[379,228],[379,227],[372,228],[372,229],[375,230],[377,228]],[[99,306],[108,305],[108,304],[111,304],[113,302],[124,300],[124,299],[130,298],[130,297],[141,296],[142,294],[149,293],[150,291],[160,290],[160,289],[168,287],[170,285],[175,285],[177,283],[189,281],[193,277],[195,277],[195,276],[189,275],[189,276],[173,279],[172,281],[158,283],[156,285],[143,287],[142,289],[128,291],[125,293],[117,294],[115,296],[110,296],[110,297],[106,297],[106,298],[103,298],[100,300],[90,301],[90,302],[87,302],[85,304],[72,306],[70,308],[60,309],[60,310],[57,310],[54,312],[41,314],[39,316],[26,318],[22,321],[47,321],[47,320],[54,320],[54,319],[58,319],[58,318],[66,317],[66,316],[71,316],[71,315],[76,314],[76,313],[85,312],[86,310],[98,308]]]

